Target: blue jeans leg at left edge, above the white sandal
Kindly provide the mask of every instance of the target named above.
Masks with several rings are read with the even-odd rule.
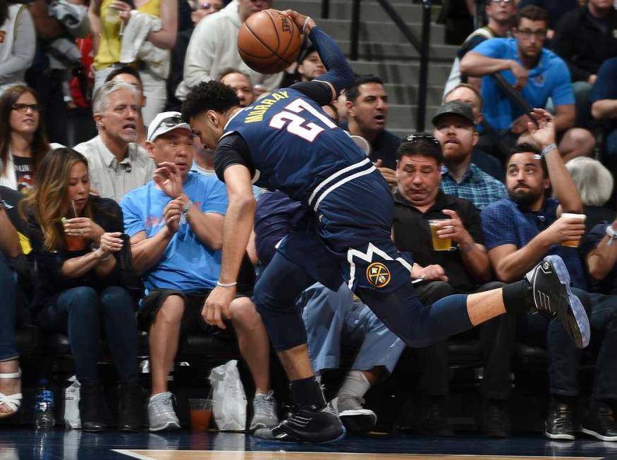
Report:
[[[0,254],[0,361],[17,359],[15,349],[15,311],[17,305],[17,275]]]

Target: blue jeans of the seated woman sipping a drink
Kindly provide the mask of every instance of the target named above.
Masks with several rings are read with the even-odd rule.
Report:
[[[77,379],[80,383],[95,384],[98,382],[101,318],[120,382],[135,383],[138,377],[137,325],[133,300],[123,287],[106,287],[101,292],[85,286],[66,290],[40,313],[39,323],[68,332]]]

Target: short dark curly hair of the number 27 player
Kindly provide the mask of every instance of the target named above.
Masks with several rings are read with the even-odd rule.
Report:
[[[221,82],[209,80],[201,82],[190,90],[182,104],[182,118],[188,121],[200,113],[213,110],[224,113],[232,107],[240,106],[240,99],[231,87]]]

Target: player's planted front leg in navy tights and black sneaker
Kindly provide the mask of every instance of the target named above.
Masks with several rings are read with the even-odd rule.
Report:
[[[333,442],[345,435],[336,410],[326,404],[314,378],[305,325],[295,306],[300,293],[313,283],[314,279],[303,268],[277,252],[255,286],[255,306],[288,375],[293,404],[291,416],[279,425],[255,430],[259,439]]]

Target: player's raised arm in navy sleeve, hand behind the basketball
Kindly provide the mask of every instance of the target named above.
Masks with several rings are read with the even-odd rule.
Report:
[[[317,49],[317,54],[322,58],[322,62],[328,70],[327,73],[320,75],[312,82],[297,83],[293,85],[293,87],[303,91],[300,86],[323,85],[323,82],[326,82],[332,87],[332,96],[327,101],[319,100],[317,102],[322,106],[329,104],[341,94],[343,89],[346,89],[346,87],[353,83],[353,70],[336,42],[334,42],[326,32],[317,27],[317,24],[315,24],[310,16],[301,15],[291,10],[287,10],[284,13],[298,24],[298,27],[300,27],[303,33],[308,34],[312,44],[314,44],[315,49]]]

